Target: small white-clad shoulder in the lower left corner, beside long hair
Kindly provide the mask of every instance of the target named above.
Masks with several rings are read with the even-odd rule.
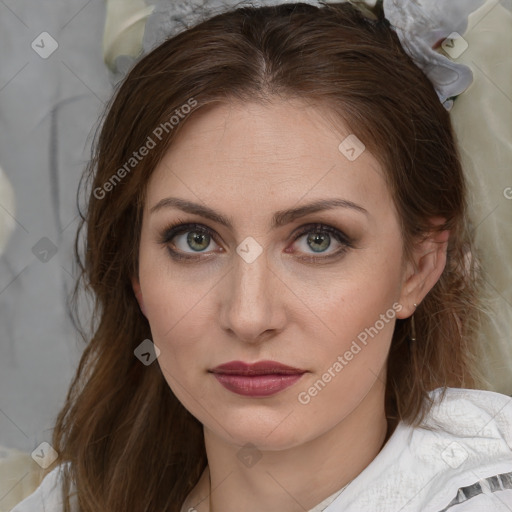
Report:
[[[62,483],[61,473],[69,463],[60,464],[48,473],[39,487],[23,501],[18,503],[11,512],[62,512]],[[78,511],[71,500],[73,511]]]

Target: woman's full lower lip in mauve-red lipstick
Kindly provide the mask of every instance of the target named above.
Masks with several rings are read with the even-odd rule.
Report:
[[[271,396],[295,384],[303,373],[293,375],[227,375],[214,373],[215,378],[229,391],[244,396]]]

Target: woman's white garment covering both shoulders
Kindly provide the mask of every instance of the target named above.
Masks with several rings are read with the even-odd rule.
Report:
[[[313,510],[331,502],[324,512],[511,512],[512,398],[440,393],[430,393],[421,427],[400,423],[366,469]],[[59,468],[11,512],[61,512]]]

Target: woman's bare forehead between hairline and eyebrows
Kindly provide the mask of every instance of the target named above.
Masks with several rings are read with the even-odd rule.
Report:
[[[172,193],[219,208],[238,199],[253,212],[265,207],[262,199],[277,210],[326,196],[389,208],[380,164],[327,114],[300,100],[194,112],[154,170],[146,206]]]

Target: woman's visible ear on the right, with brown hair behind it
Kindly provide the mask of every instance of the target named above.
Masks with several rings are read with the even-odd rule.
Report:
[[[431,219],[433,225],[441,225],[445,219]],[[425,240],[412,250],[412,261],[405,265],[404,279],[399,303],[403,308],[397,318],[408,318],[414,313],[414,304],[419,304],[437,283],[446,265],[446,252],[450,231],[432,231]]]

